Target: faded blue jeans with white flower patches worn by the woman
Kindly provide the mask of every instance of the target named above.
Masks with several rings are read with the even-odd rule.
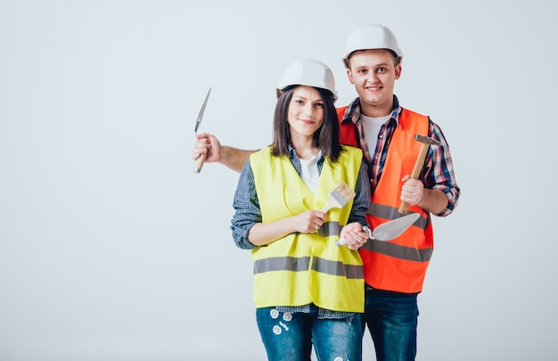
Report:
[[[340,319],[317,318],[311,313],[256,308],[259,334],[269,361],[308,361],[312,343],[320,361],[361,361],[361,314]]]

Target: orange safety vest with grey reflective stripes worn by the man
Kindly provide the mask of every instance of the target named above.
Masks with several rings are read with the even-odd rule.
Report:
[[[342,122],[347,107],[337,110],[340,121],[340,142],[359,146],[357,128],[352,121]],[[429,134],[428,117],[403,109],[398,127],[390,141],[382,176],[372,194],[372,204],[366,214],[370,226],[375,227],[391,219],[402,217],[401,178],[413,172],[421,143],[414,135]],[[390,242],[368,240],[360,249],[365,266],[365,283],[374,289],[418,293],[423,290],[424,275],[428,268],[434,239],[430,213],[418,206],[409,206],[408,212],[420,217],[404,234]]]

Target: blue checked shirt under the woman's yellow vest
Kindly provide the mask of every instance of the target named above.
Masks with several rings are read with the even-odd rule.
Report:
[[[289,160],[292,166],[297,170],[300,176],[300,159],[294,148],[290,147]],[[324,156],[317,161],[318,173],[322,173],[324,167]],[[370,206],[371,194],[370,187],[367,186],[369,180],[365,171],[365,161],[363,160],[357,176],[357,185],[355,186],[355,199],[353,200],[353,208],[350,210],[348,223],[358,222],[363,226],[367,226],[366,210]],[[250,228],[257,223],[261,223],[261,211],[259,209],[258,194],[256,193],[256,185],[254,182],[254,174],[250,167],[250,159],[246,160],[242,167],[242,173],[238,180],[236,193],[234,193],[233,207],[235,209],[234,217],[231,220],[231,230],[233,231],[233,239],[236,245],[243,250],[251,250],[256,248],[255,245],[248,241],[248,233]],[[300,307],[277,307],[280,312],[304,312],[309,313],[315,305],[308,304]],[[353,315],[351,312],[332,311],[319,308],[318,318],[344,318]]]

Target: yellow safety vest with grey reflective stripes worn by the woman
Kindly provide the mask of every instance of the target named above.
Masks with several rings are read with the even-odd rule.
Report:
[[[274,157],[271,148],[250,156],[262,223],[324,209],[329,193],[341,181],[354,189],[362,152],[343,147],[336,163],[324,160],[313,193],[287,157]],[[317,234],[289,234],[252,250],[256,308],[303,306],[314,303],[335,311],[364,311],[364,270],[355,250],[338,247],[339,230],[349,219],[353,202],[327,214]]]

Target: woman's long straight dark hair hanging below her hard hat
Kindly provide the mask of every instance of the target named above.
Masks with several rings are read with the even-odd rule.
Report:
[[[291,131],[289,128],[288,114],[292,93],[297,86],[288,86],[277,99],[275,116],[273,120],[272,154],[275,156],[289,155],[291,144]],[[333,95],[329,90],[315,87],[324,100],[324,122],[314,133],[313,145],[319,148],[326,158],[336,162],[339,159],[342,147],[339,144],[339,122],[337,111],[333,103]]]

